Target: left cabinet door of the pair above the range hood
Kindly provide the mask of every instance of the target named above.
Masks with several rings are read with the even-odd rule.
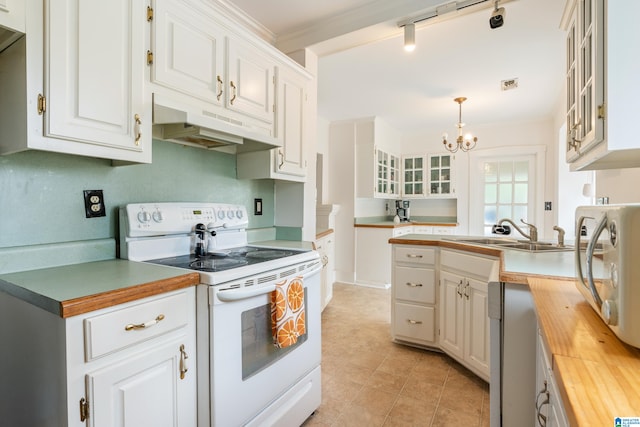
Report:
[[[215,21],[179,2],[154,2],[151,80],[214,105],[227,96],[225,35]]]

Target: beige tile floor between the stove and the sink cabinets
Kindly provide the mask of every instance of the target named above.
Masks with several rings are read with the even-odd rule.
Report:
[[[442,353],[391,342],[389,292],[335,284],[322,405],[304,426],[488,426],[487,383]]]

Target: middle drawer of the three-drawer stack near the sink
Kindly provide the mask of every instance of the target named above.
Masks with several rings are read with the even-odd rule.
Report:
[[[393,288],[397,299],[436,303],[436,273],[430,268],[396,267]]]

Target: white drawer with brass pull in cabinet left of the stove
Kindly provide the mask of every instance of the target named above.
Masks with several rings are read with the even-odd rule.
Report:
[[[84,320],[86,361],[187,325],[189,303],[187,293],[180,292],[88,317]]]

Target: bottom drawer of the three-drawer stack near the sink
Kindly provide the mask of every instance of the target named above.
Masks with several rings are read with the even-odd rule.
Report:
[[[435,341],[435,307],[395,304],[394,332],[397,336],[420,341]]]

